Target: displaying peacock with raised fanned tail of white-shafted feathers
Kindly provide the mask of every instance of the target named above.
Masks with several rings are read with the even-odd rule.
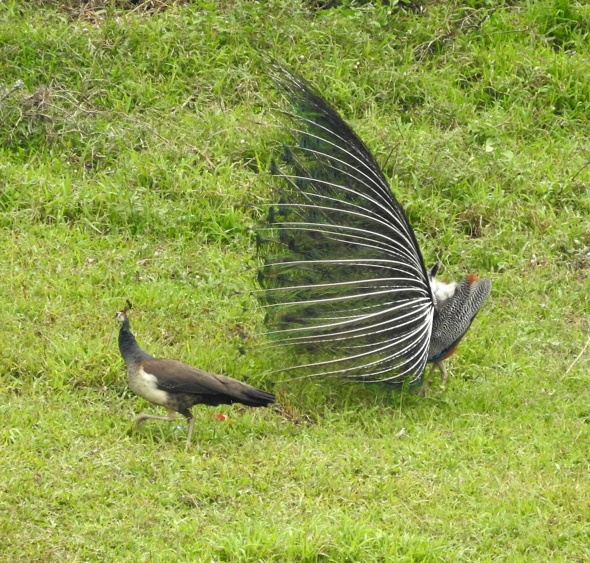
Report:
[[[490,279],[436,278],[366,145],[301,77],[273,66],[292,110],[271,167],[276,203],[257,232],[258,296],[272,344],[299,361],[277,371],[362,382],[422,382],[466,333]],[[428,377],[425,366],[432,363]]]

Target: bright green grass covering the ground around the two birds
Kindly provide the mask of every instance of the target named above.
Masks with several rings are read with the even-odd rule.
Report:
[[[590,8],[318,4],[0,5],[0,559],[588,561]],[[270,388],[281,353],[240,353],[261,51],[371,147],[427,262],[493,289],[444,393],[277,383],[195,408],[185,450],[182,422],[133,431],[158,409],[112,317]]]

